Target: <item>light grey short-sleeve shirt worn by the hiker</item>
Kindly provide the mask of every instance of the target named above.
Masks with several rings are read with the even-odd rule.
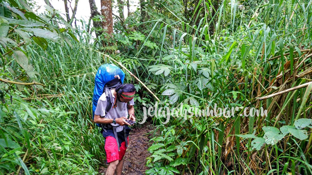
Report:
[[[112,90],[113,91],[113,90]],[[113,94],[113,92],[112,92]],[[115,102],[115,96],[113,95],[113,103]],[[114,104],[113,104],[114,105]],[[96,111],[94,112],[95,115],[99,115],[101,117],[105,117],[107,119],[117,119],[117,118],[121,118],[121,117],[126,117],[128,119],[128,108],[127,108],[127,103],[124,102],[119,102],[117,100],[117,106],[113,107],[107,112],[107,114],[105,115],[105,110],[106,110],[106,106],[107,106],[107,100],[106,100],[106,94],[103,93],[100,98],[98,99],[98,105],[96,108]],[[134,100],[132,99],[129,102],[129,105],[135,105]],[[123,127],[120,126],[119,124],[114,124],[111,123],[112,126],[118,126],[116,128],[117,132],[120,132],[123,130]]]

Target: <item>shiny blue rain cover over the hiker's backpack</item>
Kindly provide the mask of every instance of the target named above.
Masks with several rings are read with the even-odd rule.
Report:
[[[95,78],[95,83],[94,83],[95,86],[94,86],[93,99],[92,99],[93,117],[94,117],[94,112],[96,111],[96,108],[98,105],[98,99],[103,94],[105,84],[115,79],[115,75],[119,75],[121,83],[123,83],[123,80],[125,78],[125,73],[116,65],[103,64],[101,67],[99,67],[98,72],[96,74],[96,78]]]

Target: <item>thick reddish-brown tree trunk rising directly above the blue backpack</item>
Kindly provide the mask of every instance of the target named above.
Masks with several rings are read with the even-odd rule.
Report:
[[[113,35],[112,0],[101,0],[101,12],[105,17],[102,22],[103,29],[106,30],[108,35]]]

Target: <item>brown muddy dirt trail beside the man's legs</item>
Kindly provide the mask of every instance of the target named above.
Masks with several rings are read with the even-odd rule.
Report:
[[[148,167],[146,164],[146,157],[149,157],[151,154],[147,149],[149,145],[149,140],[153,136],[154,127],[150,124],[145,125],[140,128],[132,128],[129,136],[129,145],[127,152],[124,156],[123,163],[123,175],[145,175],[145,170]],[[106,166],[99,168],[99,175],[105,175]]]

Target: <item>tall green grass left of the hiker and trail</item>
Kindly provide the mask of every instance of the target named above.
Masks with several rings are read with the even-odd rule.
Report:
[[[46,50],[36,43],[25,47],[45,87],[0,85],[7,90],[0,107],[0,174],[97,174],[104,165],[104,140],[92,122],[92,95],[95,73],[105,61],[96,52],[97,41],[90,41],[84,30],[77,35],[85,36],[79,42],[72,39],[72,47],[57,42],[49,42]],[[5,67],[19,70],[15,60]],[[0,75],[25,76],[11,73],[1,69]]]

